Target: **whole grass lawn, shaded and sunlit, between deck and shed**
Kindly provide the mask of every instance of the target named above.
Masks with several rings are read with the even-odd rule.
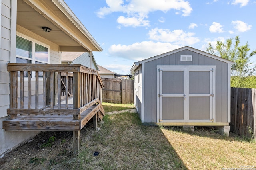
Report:
[[[105,109],[109,106],[103,104],[103,107]],[[133,106],[120,107],[127,109]],[[182,132],[179,127],[144,126],[140,123],[137,113],[128,112],[106,115],[98,127],[100,127],[98,131],[92,129],[90,125],[81,130],[81,152],[78,156],[67,154],[72,152],[72,137],[69,137],[64,143],[56,142],[52,147],[45,148],[47,152],[51,152],[51,158],[39,154],[38,159],[44,161],[30,164],[27,162],[31,158],[27,155],[22,160],[20,158],[19,166],[14,166],[13,162],[12,169],[18,169],[15,167],[74,170],[248,168],[242,166],[256,169],[256,143],[234,134],[226,137],[219,135],[215,130],[202,127],[196,127],[192,133]],[[60,151],[58,147],[61,146]],[[99,153],[98,156],[94,156],[95,152]],[[15,156],[12,158],[18,160]]]

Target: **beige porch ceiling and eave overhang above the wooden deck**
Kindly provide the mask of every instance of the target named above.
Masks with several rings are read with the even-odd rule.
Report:
[[[18,0],[17,25],[56,43],[60,51],[102,51],[63,0]]]

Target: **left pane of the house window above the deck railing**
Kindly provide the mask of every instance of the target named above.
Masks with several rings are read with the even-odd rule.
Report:
[[[16,36],[16,55],[32,58],[32,42]]]

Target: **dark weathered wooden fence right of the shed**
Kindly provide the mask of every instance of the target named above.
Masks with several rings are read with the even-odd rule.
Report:
[[[256,140],[256,89],[231,88],[230,131]]]

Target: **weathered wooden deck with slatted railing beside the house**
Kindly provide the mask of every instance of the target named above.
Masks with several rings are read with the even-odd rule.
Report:
[[[101,112],[98,115],[101,116],[100,118],[104,115],[101,106],[103,83],[98,72],[80,64],[8,63],[7,70],[11,79],[10,109],[7,109],[10,121],[3,121],[3,129],[73,130],[74,153],[77,154],[80,148],[80,129],[92,117],[95,122],[98,119],[98,111]],[[72,80],[72,83],[69,80]],[[70,86],[72,86],[71,90]],[[25,92],[27,96],[24,96]],[[72,104],[69,104],[70,92],[73,93]],[[65,94],[64,101],[61,100],[63,94]],[[39,96],[42,97],[42,101]],[[97,104],[98,106],[95,106]],[[93,105],[95,107],[91,107]],[[86,112],[87,109],[89,111]],[[18,120],[18,115],[28,116],[26,120],[23,117],[22,120],[15,122]],[[64,121],[63,118],[68,117],[71,120]],[[33,122],[33,125],[30,122]]]

